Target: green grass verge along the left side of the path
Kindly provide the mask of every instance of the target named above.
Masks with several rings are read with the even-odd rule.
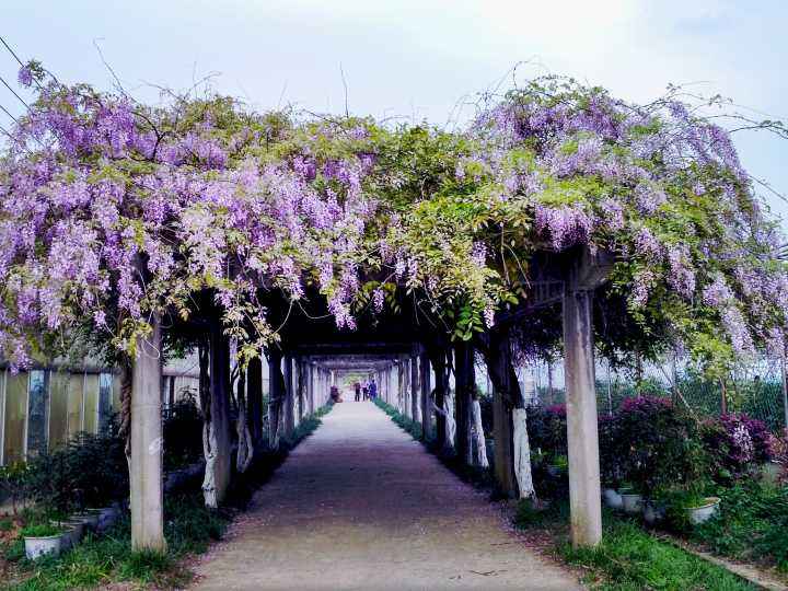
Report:
[[[251,491],[264,483],[287,457],[289,450],[312,433],[321,417],[331,410],[324,406],[305,417],[293,436],[282,439],[277,453],[262,454],[250,468],[240,475],[229,499],[229,509],[211,510],[205,507],[200,490],[192,490],[164,498],[164,553],[131,551],[129,515],[105,534],[88,534],[71,551],[58,557],[42,557],[32,561],[25,558],[24,541],[20,537],[0,545],[0,567],[3,591],[61,591],[106,587],[112,582],[128,581],[135,587],[152,584],[157,589],[183,588],[192,578],[183,565],[187,556],[206,552],[220,540],[239,508],[245,506]]]

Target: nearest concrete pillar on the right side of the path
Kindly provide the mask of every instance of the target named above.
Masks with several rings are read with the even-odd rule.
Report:
[[[593,360],[592,290],[570,274],[564,293],[564,371],[569,448],[569,507],[575,546],[602,538],[602,506]]]

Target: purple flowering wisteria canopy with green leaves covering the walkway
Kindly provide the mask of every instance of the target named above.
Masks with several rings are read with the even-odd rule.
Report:
[[[37,62],[19,78],[37,97],[0,155],[14,366],[80,331],[130,354],[153,314],[188,322],[205,294],[242,358],[277,338],[274,292],[317,290],[341,329],[408,293],[470,339],[528,304],[536,253],[577,246],[615,257],[610,356],[677,346],[717,371],[785,349],[783,237],[730,134],[677,89],[637,105],[542,78],[447,131],[212,94],[146,105]],[[559,338],[532,325],[523,350]]]

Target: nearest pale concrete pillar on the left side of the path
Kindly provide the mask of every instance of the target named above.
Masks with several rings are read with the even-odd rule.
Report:
[[[132,360],[131,462],[129,466],[131,546],[163,552],[161,324],[154,317],[148,338],[137,339]]]

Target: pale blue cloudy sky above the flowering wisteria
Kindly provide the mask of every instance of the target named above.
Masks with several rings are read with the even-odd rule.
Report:
[[[0,0],[0,35],[65,82],[109,90],[106,61],[140,101],[211,76],[258,109],[343,113],[347,102],[356,115],[439,126],[472,116],[479,93],[543,73],[635,102],[686,84],[788,120],[786,23],[783,0]],[[0,47],[0,76],[16,70]],[[0,104],[24,109],[1,86]],[[750,173],[788,195],[788,140],[734,141]],[[788,231],[788,204],[761,193]]]

